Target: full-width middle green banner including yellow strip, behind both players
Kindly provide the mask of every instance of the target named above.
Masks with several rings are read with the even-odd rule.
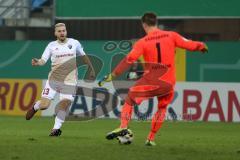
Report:
[[[131,49],[128,41],[81,41],[85,52],[102,62],[98,79],[111,72]],[[47,79],[50,62],[32,67],[31,59],[40,58],[48,41],[0,41],[0,78]],[[179,50],[176,56],[177,80],[196,82],[239,82],[240,42],[208,42],[209,53]],[[93,63],[95,61],[93,59]],[[114,62],[112,62],[112,60]],[[96,61],[97,62],[97,61]],[[79,78],[86,70],[79,67]]]

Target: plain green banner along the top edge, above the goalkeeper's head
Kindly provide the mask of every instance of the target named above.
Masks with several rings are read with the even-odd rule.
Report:
[[[94,5],[93,5],[94,4]],[[146,11],[159,17],[239,17],[239,0],[57,0],[58,18],[136,18]]]

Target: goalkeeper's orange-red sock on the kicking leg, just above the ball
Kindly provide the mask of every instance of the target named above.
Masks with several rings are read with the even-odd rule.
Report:
[[[128,122],[131,120],[133,106],[127,104],[126,102],[123,105],[121,112],[121,125],[120,128],[127,128]]]

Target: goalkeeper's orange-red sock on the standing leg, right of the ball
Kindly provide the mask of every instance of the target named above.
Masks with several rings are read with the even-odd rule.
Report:
[[[154,114],[154,117],[152,119],[152,128],[148,135],[148,140],[153,141],[155,134],[161,128],[162,123],[165,119],[166,108],[167,107],[158,108],[158,111]]]

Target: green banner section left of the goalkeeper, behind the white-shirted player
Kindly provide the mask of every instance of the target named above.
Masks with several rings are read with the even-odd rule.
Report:
[[[120,54],[119,60],[129,49],[131,43],[128,41],[80,41],[84,51],[89,56],[102,61],[99,77],[111,71],[111,59]],[[36,78],[47,79],[50,71],[50,59],[45,66],[32,67],[31,59],[40,58],[48,41],[0,41],[0,78]],[[117,63],[117,62],[116,62]],[[101,67],[101,66],[100,66]],[[86,73],[84,67],[79,67],[79,78]]]

